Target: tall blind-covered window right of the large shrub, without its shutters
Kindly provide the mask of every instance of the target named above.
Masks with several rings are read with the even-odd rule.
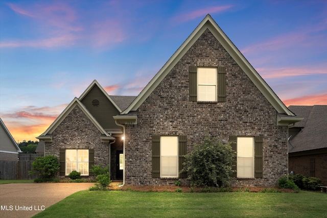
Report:
[[[254,177],[254,137],[237,137],[237,177]]]

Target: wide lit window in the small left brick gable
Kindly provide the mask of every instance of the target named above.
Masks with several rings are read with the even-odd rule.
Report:
[[[87,149],[67,149],[65,153],[65,175],[72,171],[88,176],[89,154]]]

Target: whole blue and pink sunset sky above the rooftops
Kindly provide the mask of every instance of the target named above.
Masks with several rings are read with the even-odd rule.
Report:
[[[206,14],[289,105],[327,105],[327,1],[0,1],[0,117],[36,140],[96,79],[137,95]]]

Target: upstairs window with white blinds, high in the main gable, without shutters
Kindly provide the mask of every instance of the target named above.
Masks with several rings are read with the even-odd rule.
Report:
[[[217,68],[198,67],[198,101],[216,102],[217,101]]]

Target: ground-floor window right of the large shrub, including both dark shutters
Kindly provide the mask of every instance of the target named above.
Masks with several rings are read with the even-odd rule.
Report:
[[[233,177],[263,177],[263,136],[229,136],[232,150],[237,152]]]

